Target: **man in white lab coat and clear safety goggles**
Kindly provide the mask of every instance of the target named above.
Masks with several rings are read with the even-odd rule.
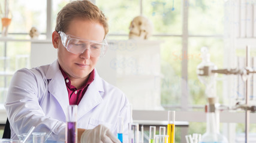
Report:
[[[124,117],[128,140],[127,97],[95,69],[106,52],[108,32],[106,17],[91,2],[73,1],[62,8],[52,34],[58,60],[18,70],[11,80],[5,103],[11,138],[35,126],[34,132],[52,130],[50,141],[65,141],[67,107],[76,104],[78,142],[119,142],[119,116]]]

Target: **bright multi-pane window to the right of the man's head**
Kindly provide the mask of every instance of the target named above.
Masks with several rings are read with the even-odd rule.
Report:
[[[223,55],[224,50],[224,1],[147,0],[142,1],[141,5],[140,2],[108,1],[106,4],[101,0],[96,1],[110,21],[107,38],[112,40],[116,39],[116,35],[122,35],[122,39],[128,39],[130,21],[140,14],[149,18],[154,25],[150,40],[162,41],[162,76],[155,77],[161,79],[162,106],[167,109],[182,108],[188,103],[189,107],[203,107],[206,104],[204,85],[197,78],[196,67],[201,62],[202,46],[208,46],[210,53],[214,53],[211,58],[213,63],[222,67],[223,57],[219,55]],[[183,23],[184,20],[188,23]],[[186,28],[182,30],[182,26]],[[182,42],[188,45],[183,45]],[[188,66],[182,67],[182,63]],[[218,91],[222,93],[221,90]]]

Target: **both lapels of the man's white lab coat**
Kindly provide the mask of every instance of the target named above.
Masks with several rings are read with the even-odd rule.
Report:
[[[96,107],[98,104],[103,101],[104,87],[103,87],[103,79],[98,75],[97,70],[95,69],[95,77],[94,81],[88,86],[85,95],[83,95],[82,100],[78,105],[78,120],[92,110],[92,108]],[[46,73],[46,78],[49,80],[49,92],[56,98],[56,100],[61,105],[62,110],[66,114],[67,107],[70,105],[68,100],[68,91],[65,85],[64,77],[62,76],[61,70],[59,70],[58,60],[54,61],[50,64],[49,69]]]

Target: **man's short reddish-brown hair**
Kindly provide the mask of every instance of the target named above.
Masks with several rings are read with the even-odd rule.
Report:
[[[73,1],[65,5],[61,11],[59,11],[56,19],[55,30],[57,32],[66,32],[70,21],[74,18],[83,18],[85,20],[92,20],[103,25],[105,30],[105,36],[109,32],[109,25],[107,24],[107,18],[103,12],[92,2],[85,1]]]

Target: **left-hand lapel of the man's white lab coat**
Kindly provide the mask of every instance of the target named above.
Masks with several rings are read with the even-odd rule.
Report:
[[[53,62],[46,73],[47,80],[49,82],[49,92],[56,98],[61,105],[62,110],[66,114],[67,107],[70,105],[68,101],[68,91],[65,85],[64,77],[62,76],[61,70],[59,70],[59,63],[56,60]]]

